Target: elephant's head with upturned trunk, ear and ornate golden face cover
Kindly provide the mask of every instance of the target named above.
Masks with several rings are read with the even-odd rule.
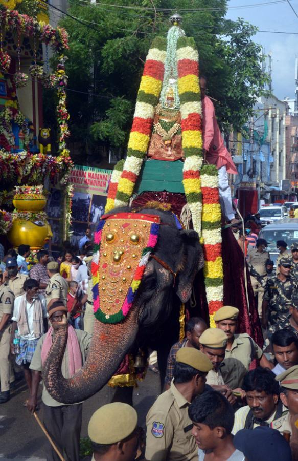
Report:
[[[56,330],[43,369],[49,393],[66,404],[99,391],[135,342],[146,342],[167,323],[174,299],[189,300],[194,277],[203,266],[197,232],[182,229],[173,213],[159,209],[114,209],[100,220],[95,244],[97,320],[87,361],[72,378],[62,376],[64,325]]]

